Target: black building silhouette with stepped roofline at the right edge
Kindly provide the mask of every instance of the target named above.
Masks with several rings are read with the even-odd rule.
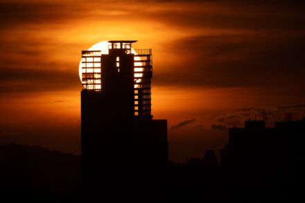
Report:
[[[229,143],[220,150],[223,193],[244,202],[304,198],[304,143],[305,118],[230,128]]]

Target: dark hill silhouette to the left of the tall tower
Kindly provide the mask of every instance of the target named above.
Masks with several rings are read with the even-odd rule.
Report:
[[[58,202],[77,197],[80,156],[10,143],[0,145],[0,165],[1,199]]]

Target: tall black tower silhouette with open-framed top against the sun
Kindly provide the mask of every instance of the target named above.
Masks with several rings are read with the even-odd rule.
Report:
[[[105,183],[108,192],[123,191],[168,164],[167,121],[151,114],[151,49],[108,42],[107,53],[82,51],[82,185],[89,191]]]

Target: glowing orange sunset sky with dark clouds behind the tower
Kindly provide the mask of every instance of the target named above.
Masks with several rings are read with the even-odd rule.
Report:
[[[105,40],[153,49],[153,116],[168,119],[173,161],[218,151],[254,115],[300,119],[304,4],[0,0],[0,143],[79,154],[78,64]]]

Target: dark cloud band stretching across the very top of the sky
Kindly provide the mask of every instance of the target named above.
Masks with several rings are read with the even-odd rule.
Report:
[[[1,1],[2,27],[97,17],[159,21],[176,28],[302,29],[301,1]],[[170,3],[168,5],[168,3]],[[171,4],[175,4],[173,7]],[[132,6],[131,6],[132,5]],[[153,9],[152,9],[153,8]],[[98,12],[99,11],[99,12]],[[116,11],[117,13],[110,13]],[[125,14],[124,14],[125,13]],[[94,15],[94,16],[93,16]]]

